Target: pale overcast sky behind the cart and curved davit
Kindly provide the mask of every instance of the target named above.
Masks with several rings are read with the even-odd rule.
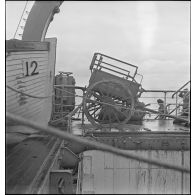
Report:
[[[13,38],[25,2],[6,2]],[[145,89],[178,89],[190,79],[189,1],[64,2],[47,37],[57,37],[57,71],[88,85],[94,52],[139,67]]]

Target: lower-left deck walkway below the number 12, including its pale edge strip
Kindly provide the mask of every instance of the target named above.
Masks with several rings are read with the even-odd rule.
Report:
[[[6,132],[6,193],[32,193],[40,185],[38,174],[44,178],[61,141],[27,127],[11,129]]]

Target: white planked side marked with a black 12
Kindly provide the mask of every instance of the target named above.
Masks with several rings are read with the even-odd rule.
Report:
[[[6,87],[6,111],[43,124],[48,123],[52,110],[57,39],[45,41],[49,42],[48,51],[11,51],[6,56],[6,85],[29,95],[46,97],[22,97]],[[26,76],[25,63],[32,61],[37,62],[38,74]]]

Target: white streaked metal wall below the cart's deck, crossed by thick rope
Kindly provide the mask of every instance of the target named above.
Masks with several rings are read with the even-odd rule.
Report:
[[[180,166],[183,158],[183,166],[190,165],[189,151],[133,150],[129,152]],[[87,151],[83,156],[85,160],[81,165],[83,165],[84,172],[79,175],[79,178],[81,178],[81,189],[85,186],[85,192],[107,194],[181,194],[190,192],[189,174],[140,163],[107,152]],[[89,183],[89,178],[93,180],[93,184]],[[85,183],[86,181],[88,184]]]

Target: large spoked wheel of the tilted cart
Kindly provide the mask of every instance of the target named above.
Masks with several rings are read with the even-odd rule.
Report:
[[[99,81],[86,91],[84,113],[95,126],[126,124],[134,112],[134,98],[124,84],[116,81]]]

